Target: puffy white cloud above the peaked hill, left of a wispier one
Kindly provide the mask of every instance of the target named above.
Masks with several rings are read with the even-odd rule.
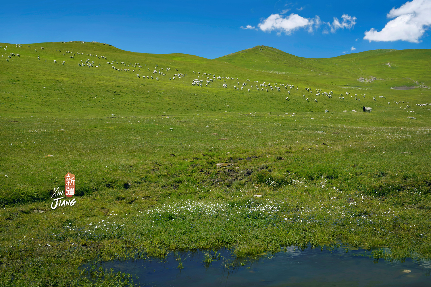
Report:
[[[315,18],[312,19],[307,19],[294,13],[286,17],[283,17],[279,14],[271,14],[268,18],[260,22],[258,27],[264,32],[271,32],[275,30],[278,31],[278,34],[284,32],[287,35],[290,35],[293,31],[299,28],[307,28],[309,32],[312,32],[313,27],[319,28],[320,24],[321,21],[319,16],[315,16]]]

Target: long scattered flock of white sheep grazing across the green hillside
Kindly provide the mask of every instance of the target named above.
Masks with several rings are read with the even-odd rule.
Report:
[[[17,44],[16,47],[17,48],[21,48],[22,45],[21,44]],[[3,46],[0,46],[0,48],[3,48]],[[31,48],[31,47],[28,46],[28,48]],[[5,48],[3,48],[3,49],[6,51],[7,50],[7,46]],[[41,49],[44,50],[45,48],[41,47]],[[34,49],[34,51],[37,52],[37,49]],[[61,52],[61,50],[60,49],[56,49],[56,52]],[[66,55],[66,54],[69,54],[69,55]],[[63,53],[63,56],[69,56],[70,59],[75,59],[76,55],[81,56],[81,55],[84,55],[84,53],[83,52],[70,52],[70,51],[66,51],[66,52]],[[9,59],[12,59],[12,57],[14,57],[14,56],[20,57],[19,54],[15,55],[14,53],[10,53],[10,55],[8,55],[8,57],[6,59],[6,62],[9,62]],[[92,54],[89,54],[89,53],[85,53],[85,56],[95,57],[97,59],[108,60],[105,56],[97,56],[97,55],[92,55]],[[2,55],[2,57],[3,57],[3,55]],[[37,56],[37,59],[40,60],[40,56]],[[44,62],[47,62],[47,60],[45,59]],[[54,63],[56,63],[56,62],[57,61],[54,60]],[[135,72],[136,70],[141,71],[141,68],[143,68],[143,66],[140,65],[138,62],[134,63],[134,64],[132,64],[131,62],[129,62],[128,64],[126,64],[125,62],[121,62],[121,61],[118,62],[115,59],[112,60],[111,62],[108,61],[107,64],[108,65],[112,65],[112,70],[113,71],[130,72],[132,70],[133,72]],[[62,65],[66,65],[66,61],[63,61]],[[80,60],[80,62],[78,62],[78,66],[80,66],[80,67],[87,66],[88,68],[92,68],[92,67],[99,68],[101,65],[102,65],[101,63],[95,64],[94,60],[91,60],[89,58],[87,58],[84,62],[83,62],[83,60]],[[123,68],[117,68],[115,65],[124,65],[124,67]],[[126,68],[126,65],[127,65],[127,68]],[[147,64],[144,64],[144,65],[147,66]],[[150,68],[147,68],[147,70],[150,71]],[[163,68],[159,68],[159,65],[155,65],[155,68],[154,68],[154,70],[151,73],[153,75],[158,74],[158,75],[161,75],[162,77],[166,77],[166,73],[168,71],[170,71],[170,70],[171,70],[171,68],[165,68],[165,69],[163,69]],[[178,69],[175,69],[175,70],[178,71]],[[218,77],[216,77],[215,74],[213,74],[213,73],[208,73],[208,74],[207,73],[202,73],[202,74],[200,74],[200,72],[196,72],[196,71],[193,71],[192,73],[193,74],[198,74],[198,75],[197,75],[197,79],[194,79],[193,82],[191,83],[191,85],[192,86],[199,86],[201,88],[204,87],[204,86],[208,87],[208,85],[210,83],[215,82],[216,80],[223,80],[222,88],[228,89],[228,83],[226,82],[226,80],[228,80],[228,81],[229,80],[230,81],[235,80],[234,77],[226,77],[226,76],[218,76]],[[143,79],[151,79],[151,80],[155,79],[155,80],[159,80],[159,77],[157,77],[157,76],[154,76],[155,78],[153,76],[141,76],[140,74],[136,74],[136,76],[138,78],[142,77]],[[181,77],[186,77],[186,76],[187,76],[187,74],[175,73],[175,74],[173,74],[172,78],[171,77],[168,77],[168,78],[169,78],[169,80],[175,80],[175,77],[177,77],[178,79],[180,79]],[[238,80],[238,78],[236,80]],[[295,88],[294,85],[290,85],[290,84],[284,84],[284,83],[277,84],[277,83],[273,83],[273,85],[271,85],[271,83],[266,83],[265,81],[259,82],[257,80],[254,80],[253,84],[249,85],[249,82],[250,82],[250,80],[247,79],[243,83],[237,82],[236,84],[238,86],[236,86],[235,84],[233,84],[234,91],[239,92],[240,90],[244,90],[244,89],[247,88],[247,92],[251,92],[254,89],[256,91],[262,91],[262,92],[266,91],[268,93],[269,91],[274,91],[274,90],[277,90],[278,92],[281,92],[281,89],[284,88],[284,89],[288,89],[288,91],[287,91],[288,95],[290,95],[290,90],[293,90],[293,89],[296,89],[296,91],[299,92],[299,87],[298,86],[296,86],[296,88]],[[254,85],[254,84],[256,84],[256,85]],[[331,90],[328,91],[328,92],[325,92],[325,91],[322,91],[322,89],[314,89],[314,91],[313,91],[313,89],[309,88],[309,87],[305,87],[304,89],[307,92],[309,92],[309,93],[312,93],[312,94],[315,93],[315,95],[314,95],[315,97],[325,96],[325,97],[328,97],[328,99],[331,99],[332,96],[334,95],[334,92],[331,91]],[[349,95],[350,95],[350,92],[346,92],[344,95],[342,93],[340,93],[339,99],[340,100],[344,100],[344,96],[349,96]],[[365,99],[366,94],[361,94],[361,96],[362,96],[362,99]],[[303,98],[307,102],[309,101],[309,98],[307,98],[305,94],[303,94]],[[353,96],[350,96],[350,98],[353,98]],[[380,99],[386,99],[385,96],[379,96],[379,98]],[[289,100],[288,96],[286,97],[286,100]],[[361,98],[359,97],[358,94],[355,94],[355,100],[358,101],[358,102],[361,100]],[[373,96],[373,101],[377,102],[376,96]],[[314,102],[318,103],[318,100],[314,99]],[[399,101],[399,102],[394,101],[394,102],[398,105],[398,104],[400,104],[401,101]],[[402,101],[402,102],[404,103],[404,101]],[[387,104],[390,105],[390,102],[388,102]],[[409,102],[407,102],[407,104],[409,104]],[[428,103],[426,103],[426,104],[416,104],[416,105],[417,106],[425,106],[425,105],[428,105]],[[406,105],[406,108],[410,108],[410,107],[411,107],[410,105]],[[363,108],[363,111],[366,111],[366,112],[371,112],[371,110],[372,110],[371,108],[367,108],[365,106],[363,106],[362,108]],[[328,112],[328,110],[325,110],[325,112]]]

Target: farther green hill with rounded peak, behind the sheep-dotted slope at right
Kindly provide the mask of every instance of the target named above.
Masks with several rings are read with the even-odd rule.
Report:
[[[338,56],[335,58],[301,58],[268,46],[256,46],[235,52],[216,61],[229,63],[254,71],[291,74],[294,77],[316,77],[355,81],[359,77],[377,77],[384,80],[405,79],[431,81],[431,49],[380,49]],[[387,65],[387,63],[390,63]]]

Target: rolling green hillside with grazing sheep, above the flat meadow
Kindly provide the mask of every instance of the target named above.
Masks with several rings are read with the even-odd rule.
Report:
[[[415,80],[430,86],[430,50],[375,50],[308,59],[258,46],[211,60],[130,52],[97,42],[0,46],[2,117],[285,114],[362,105],[404,109],[406,105],[387,103],[409,101],[413,106],[430,102],[431,96],[429,89],[390,89],[417,85]],[[370,76],[381,80],[357,81]],[[194,80],[201,83],[192,85]],[[334,97],[317,95],[317,89],[332,91]],[[352,95],[339,99],[346,92]],[[359,102],[354,95],[362,93],[367,96]]]

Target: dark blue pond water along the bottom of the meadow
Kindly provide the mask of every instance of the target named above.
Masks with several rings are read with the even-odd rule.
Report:
[[[290,247],[235,259],[228,250],[198,250],[172,252],[165,259],[104,262],[103,267],[136,275],[141,286],[431,286],[429,262],[374,262],[368,255]]]

